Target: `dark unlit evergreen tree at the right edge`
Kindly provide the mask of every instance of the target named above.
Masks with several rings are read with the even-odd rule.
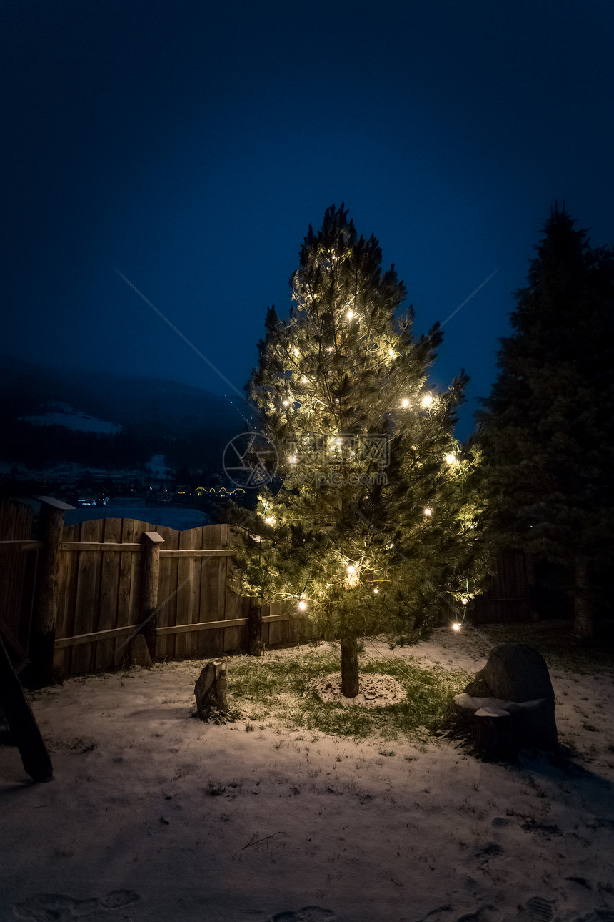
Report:
[[[587,637],[612,554],[614,253],[574,223],[563,206],[544,225],[479,420],[492,536],[563,565]]]

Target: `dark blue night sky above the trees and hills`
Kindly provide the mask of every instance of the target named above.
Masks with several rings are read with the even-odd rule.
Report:
[[[0,351],[242,390],[309,223],[345,201],[434,382],[494,373],[555,199],[614,242],[614,6],[7,0]],[[104,375],[100,375],[104,386]],[[240,420],[237,417],[237,421]]]

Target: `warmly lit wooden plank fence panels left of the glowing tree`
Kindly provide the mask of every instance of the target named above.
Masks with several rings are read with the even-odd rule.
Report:
[[[227,525],[178,532],[133,519],[97,519],[64,526],[55,667],[79,675],[120,665],[147,612],[153,623],[143,632],[156,659],[246,651],[254,600],[228,587],[227,540]],[[153,605],[148,554],[159,557]],[[289,643],[305,627],[279,607],[264,607],[262,615],[267,646]]]

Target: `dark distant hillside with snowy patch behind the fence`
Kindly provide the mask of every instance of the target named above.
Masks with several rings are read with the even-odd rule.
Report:
[[[120,468],[167,455],[173,467],[217,469],[224,445],[244,425],[224,397],[158,378],[52,369],[0,357],[0,382],[0,460],[34,467],[74,461]],[[107,431],[103,426],[78,431],[71,413],[112,425]],[[57,424],[37,425],[24,417]]]

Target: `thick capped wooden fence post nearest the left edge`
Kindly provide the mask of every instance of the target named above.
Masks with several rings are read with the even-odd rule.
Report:
[[[27,680],[35,688],[52,685],[53,646],[59,597],[60,551],[64,512],[74,509],[52,496],[35,496],[41,503],[38,538],[41,542],[39,565],[34,587],[32,630],[29,640],[30,666]]]

